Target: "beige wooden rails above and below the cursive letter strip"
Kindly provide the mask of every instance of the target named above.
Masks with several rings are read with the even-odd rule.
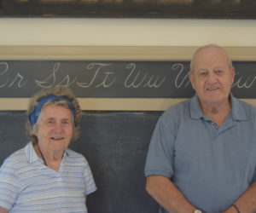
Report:
[[[0,60],[190,60],[198,47],[0,46]],[[256,47],[225,47],[232,60],[256,61]],[[26,110],[28,98],[0,98],[0,110]],[[80,98],[83,110],[164,111],[183,99]],[[245,100],[256,106],[254,99]]]

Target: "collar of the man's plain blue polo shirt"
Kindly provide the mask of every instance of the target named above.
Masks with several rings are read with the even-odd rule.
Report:
[[[233,120],[247,120],[247,114],[245,109],[241,106],[241,102],[238,101],[232,94],[230,94],[230,101],[231,101],[231,117]],[[200,119],[206,118],[208,119],[205,114],[201,110],[201,106],[198,100],[198,96],[194,95],[190,101],[190,115],[191,118]]]

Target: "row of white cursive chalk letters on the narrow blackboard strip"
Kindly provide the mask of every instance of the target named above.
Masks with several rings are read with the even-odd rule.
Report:
[[[11,62],[10,62],[11,63]],[[49,63],[49,62],[48,62]],[[63,62],[64,64],[64,62]],[[80,63],[81,64],[81,63]],[[65,64],[55,62],[49,70],[44,73],[35,72],[34,67],[9,66],[8,62],[0,61],[0,92],[1,89],[11,88],[53,88],[58,85],[73,87],[73,89],[192,89],[189,82],[188,68],[181,62],[165,65],[164,69],[160,66],[141,66],[138,62],[119,63],[118,66],[113,63],[91,62],[82,63],[81,68],[68,70]],[[68,66],[70,67],[70,66]],[[155,67],[155,68],[154,68]],[[19,70],[20,68],[20,70]],[[31,73],[30,74],[30,70]],[[38,67],[37,67],[38,69]],[[73,69],[73,68],[72,68]],[[63,74],[65,73],[65,74]],[[46,76],[45,76],[46,74]],[[42,78],[42,76],[44,76]],[[29,78],[28,78],[29,77]],[[256,74],[253,72],[236,72],[235,82],[232,87],[236,89],[251,89],[256,83]],[[35,85],[32,85],[35,83]],[[102,91],[102,90],[100,90]],[[112,90],[113,91],[113,90]],[[146,91],[146,90],[145,90]]]

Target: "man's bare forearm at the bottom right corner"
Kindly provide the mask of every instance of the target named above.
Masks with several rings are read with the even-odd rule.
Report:
[[[255,213],[256,212],[256,181],[248,187],[247,191],[241,195],[234,203],[238,210],[242,213]],[[238,210],[232,205],[224,213],[237,213]]]

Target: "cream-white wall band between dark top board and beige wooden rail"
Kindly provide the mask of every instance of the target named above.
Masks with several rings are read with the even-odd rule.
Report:
[[[0,19],[1,45],[256,47],[256,20]]]

